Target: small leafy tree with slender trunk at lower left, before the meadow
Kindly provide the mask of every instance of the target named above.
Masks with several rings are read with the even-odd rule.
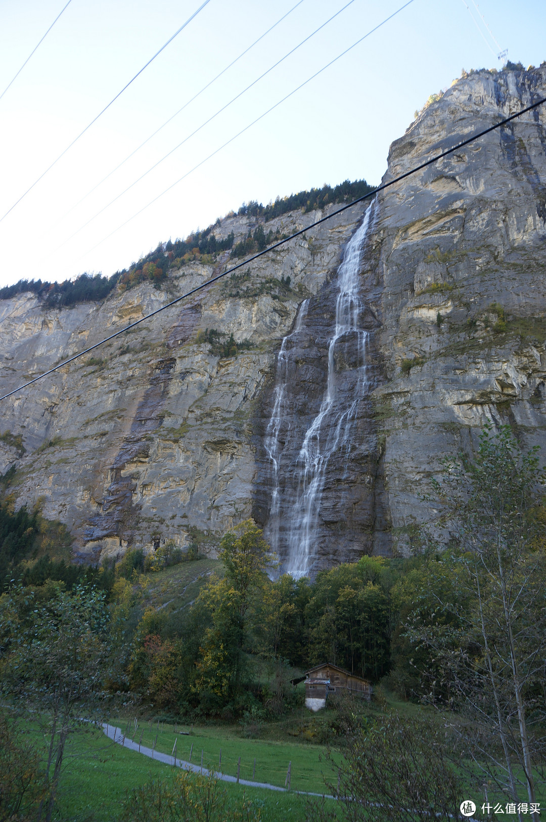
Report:
[[[2,690],[48,727],[48,797],[38,819],[51,820],[67,737],[92,718],[108,668],[108,609],[104,593],[49,584],[0,598]]]

